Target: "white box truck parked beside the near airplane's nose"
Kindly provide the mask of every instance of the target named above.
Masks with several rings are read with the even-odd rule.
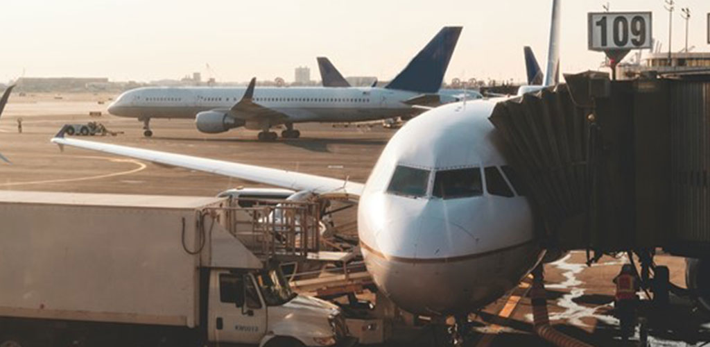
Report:
[[[0,346],[342,346],[220,224],[229,198],[0,192]]]

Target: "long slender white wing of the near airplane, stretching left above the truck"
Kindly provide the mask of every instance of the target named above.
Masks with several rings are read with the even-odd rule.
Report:
[[[138,149],[116,144],[105,144],[80,139],[67,139],[62,129],[52,142],[61,146],[73,146],[92,151],[101,151],[119,156],[129,156],[135,159],[152,161],[168,166],[178,166],[186,169],[215,173],[217,175],[241,178],[246,181],[265,183],[271,186],[293,189],[295,191],[312,191],[314,193],[344,193],[358,198],[364,184],[343,179],[315,176],[288,170],[271,169],[263,166],[239,164],[231,161],[207,159],[199,156],[187,156],[151,149]]]

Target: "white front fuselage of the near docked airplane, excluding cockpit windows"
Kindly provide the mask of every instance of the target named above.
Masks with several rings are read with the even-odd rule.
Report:
[[[474,311],[513,289],[542,256],[527,198],[507,176],[511,196],[491,193],[486,182],[485,168],[508,165],[488,122],[494,105],[479,100],[421,114],[390,140],[368,178],[358,210],[361,249],[378,287],[407,311]],[[398,166],[427,172],[423,193],[389,191]],[[437,173],[452,169],[480,173],[481,193],[437,197]]]

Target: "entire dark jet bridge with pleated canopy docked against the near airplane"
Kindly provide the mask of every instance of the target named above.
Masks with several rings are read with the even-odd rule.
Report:
[[[550,244],[707,253],[710,80],[565,78],[490,117]]]

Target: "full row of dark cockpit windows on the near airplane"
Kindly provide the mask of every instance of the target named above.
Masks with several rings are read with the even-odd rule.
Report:
[[[430,173],[431,171],[427,169],[399,165],[395,169],[387,191],[400,196],[427,197]],[[481,196],[484,193],[484,178],[486,190],[492,196],[510,198],[515,196],[513,189],[518,196],[525,196],[527,193],[513,168],[507,165],[487,166],[484,168],[483,175],[479,167],[438,170],[434,171],[434,175],[431,193],[433,198],[455,199]],[[513,185],[512,188],[508,182]]]

